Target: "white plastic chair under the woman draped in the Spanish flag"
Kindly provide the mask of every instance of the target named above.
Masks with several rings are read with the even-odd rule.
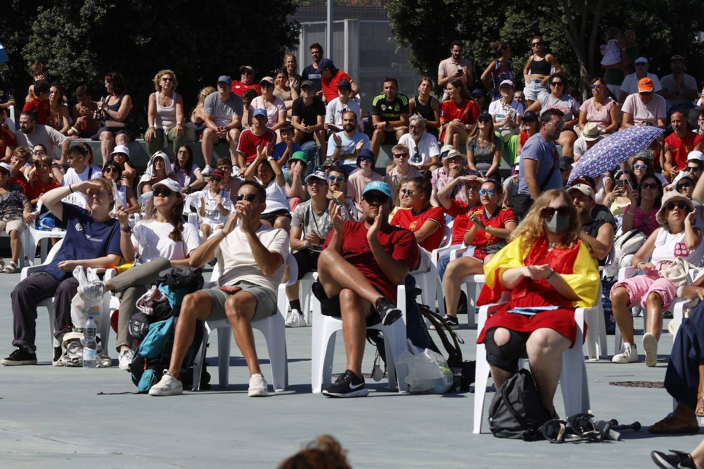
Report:
[[[479,308],[477,330],[484,329],[484,323],[489,317],[501,308],[503,302],[508,301],[504,295],[501,303],[486,304]],[[504,301],[505,300],[505,301]],[[584,317],[589,314],[589,309],[577,308],[574,310],[574,321],[577,322],[577,334],[572,348],[562,352],[562,373],[560,373],[560,388],[562,401],[565,404],[565,416],[572,416],[577,412],[586,412],[591,407],[589,404],[589,380],[586,376],[586,364],[582,354],[582,330]],[[522,368],[524,360],[518,363]],[[489,363],[486,361],[486,347],[477,344],[477,368],[474,374],[474,428],[472,433],[481,433],[484,423],[484,400],[486,397],[486,383],[489,381]],[[498,391],[498,390],[497,390]]]

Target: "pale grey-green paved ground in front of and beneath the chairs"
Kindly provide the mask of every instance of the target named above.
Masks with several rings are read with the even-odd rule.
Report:
[[[3,356],[13,349],[9,294],[18,280],[19,274],[0,275]],[[636,327],[642,328],[642,320]],[[643,429],[624,432],[622,442],[525,443],[472,435],[471,393],[397,395],[373,383],[366,399],[327,399],[310,393],[310,333],[311,328],[287,330],[290,387],[282,394],[246,396],[246,366],[233,341],[227,389],[214,385],[210,392],[155,398],[124,394],[135,387],[118,368],[52,367],[46,311],[40,309],[42,364],[0,367],[0,467],[275,468],[315,435],[329,433],[348,449],[356,468],[647,468],[654,467],[650,450],[691,449],[701,440],[698,435],[653,437]],[[477,331],[465,326],[460,335],[465,359],[474,359]],[[256,336],[265,361],[263,338]],[[208,353],[213,365],[215,340],[213,335]],[[662,381],[672,339],[664,335],[661,343],[656,368],[588,364],[598,418],[648,425],[672,410],[665,390],[609,385]],[[371,371],[372,358],[367,347],[365,371]],[[335,359],[335,371],[343,371],[341,339]],[[216,368],[209,369],[216,382]],[[270,379],[268,365],[263,370]],[[559,389],[556,399],[560,411]]]

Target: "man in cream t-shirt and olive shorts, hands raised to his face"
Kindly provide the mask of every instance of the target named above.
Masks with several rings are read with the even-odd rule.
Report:
[[[265,397],[264,379],[254,347],[252,321],[277,314],[277,288],[284,276],[289,255],[289,235],[284,229],[261,223],[266,205],[264,188],[244,181],[235,196],[234,214],[225,228],[217,231],[191,252],[191,266],[201,266],[215,257],[222,274],[219,287],[186,295],[176,325],[171,362],[161,381],[151,387],[152,396],[183,393],[179,380],[184,356],[193,342],[196,321],[230,321],[234,340],[249,368],[249,396]],[[238,225],[239,221],[239,225]]]

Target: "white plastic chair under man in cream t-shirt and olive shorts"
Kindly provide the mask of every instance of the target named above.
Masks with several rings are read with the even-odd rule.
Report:
[[[286,296],[286,287],[296,283],[298,276],[298,264],[294,255],[289,252],[286,258],[286,265],[289,266],[289,281],[281,283],[277,292],[277,314],[272,314],[265,319],[253,321],[252,328],[258,329],[264,335],[267,349],[269,351],[269,364],[271,365],[272,384],[275,392],[284,391],[289,385],[289,361],[286,351],[286,313],[289,299]],[[219,275],[220,269],[217,271]],[[203,288],[211,288],[217,285],[217,278],[213,269],[211,281],[203,285]],[[203,372],[203,362],[206,359],[206,347],[208,338],[213,330],[218,330],[218,377],[222,387],[227,387],[230,380],[230,344],[232,342],[232,326],[227,319],[220,321],[205,321],[205,333],[203,334],[203,344],[196,355],[193,369],[193,390],[199,391],[201,387],[201,374]]]

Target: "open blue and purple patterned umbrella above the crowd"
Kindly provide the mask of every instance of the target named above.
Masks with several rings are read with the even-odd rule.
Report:
[[[653,143],[662,132],[664,130],[658,129],[658,127],[636,125],[617,131],[606,139],[601,139],[596,145],[589,148],[572,167],[570,182],[572,179],[584,175],[594,178],[601,176],[639,151],[648,148],[650,143]]]

